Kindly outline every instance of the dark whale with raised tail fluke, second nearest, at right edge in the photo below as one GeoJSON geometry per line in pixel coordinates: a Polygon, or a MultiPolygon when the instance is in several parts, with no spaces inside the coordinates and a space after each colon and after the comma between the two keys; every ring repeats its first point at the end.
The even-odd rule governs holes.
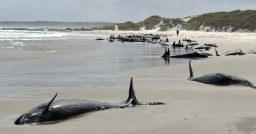
{"type": "Polygon", "coordinates": [[[189,61],[189,71],[190,71],[189,80],[191,81],[197,81],[205,84],[216,84],[221,86],[228,86],[232,84],[244,84],[245,86],[256,88],[255,85],[253,85],[248,80],[245,80],[244,78],[240,78],[238,76],[233,76],[231,74],[226,74],[222,72],[206,74],[204,76],[194,78],[193,70],[191,67],[191,60],[189,61]]]}

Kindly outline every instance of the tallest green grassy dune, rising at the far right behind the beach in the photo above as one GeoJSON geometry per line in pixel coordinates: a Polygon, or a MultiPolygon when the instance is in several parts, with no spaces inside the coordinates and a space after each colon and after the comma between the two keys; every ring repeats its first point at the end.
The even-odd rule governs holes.
{"type": "Polygon", "coordinates": [[[212,31],[255,31],[256,30],[256,11],[230,11],[230,12],[216,12],[206,13],[197,17],[191,18],[185,25],[184,29],[199,30],[200,27],[209,27],[212,31]]]}

